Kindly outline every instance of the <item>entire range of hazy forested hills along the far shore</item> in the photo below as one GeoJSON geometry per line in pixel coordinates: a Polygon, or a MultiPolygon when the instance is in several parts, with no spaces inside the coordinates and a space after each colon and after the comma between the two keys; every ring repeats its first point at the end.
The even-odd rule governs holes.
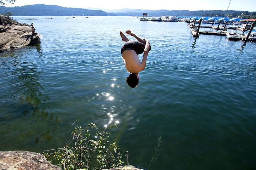
{"type": "MultiPolygon", "coordinates": [[[[114,10],[113,10],[114,11],[114,10]]],[[[139,9],[124,9],[119,12],[108,13],[103,10],[88,10],[83,8],[66,8],[57,5],[27,5],[21,7],[4,7],[0,6],[0,14],[11,12],[13,16],[142,16],[142,13],[148,13],[152,16],[225,16],[226,11],[188,11],[188,10],[139,10],[139,9]]],[[[228,11],[229,17],[238,17],[244,12],[244,18],[256,18],[256,12],[248,11],[228,11]]]]}

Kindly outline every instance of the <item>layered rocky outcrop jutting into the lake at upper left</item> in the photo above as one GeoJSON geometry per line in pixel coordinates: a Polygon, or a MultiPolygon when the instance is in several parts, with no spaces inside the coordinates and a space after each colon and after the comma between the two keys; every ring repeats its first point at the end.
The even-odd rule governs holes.
{"type": "Polygon", "coordinates": [[[39,36],[33,35],[32,27],[0,15],[0,51],[37,43],[39,36]]]}

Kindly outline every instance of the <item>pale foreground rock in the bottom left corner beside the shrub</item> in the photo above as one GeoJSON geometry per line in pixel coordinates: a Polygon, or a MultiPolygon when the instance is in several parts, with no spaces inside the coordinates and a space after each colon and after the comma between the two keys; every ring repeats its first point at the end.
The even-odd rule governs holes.
{"type": "Polygon", "coordinates": [[[43,154],[28,151],[0,151],[1,170],[61,170],[43,154]]]}

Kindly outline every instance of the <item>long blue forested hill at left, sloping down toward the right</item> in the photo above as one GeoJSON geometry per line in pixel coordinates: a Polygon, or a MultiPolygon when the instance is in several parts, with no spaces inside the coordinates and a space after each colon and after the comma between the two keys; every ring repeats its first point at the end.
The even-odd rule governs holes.
{"type": "Polygon", "coordinates": [[[21,7],[0,6],[0,14],[11,12],[13,16],[116,16],[101,10],[87,10],[82,8],[66,8],[57,5],[26,5],[21,7]]]}

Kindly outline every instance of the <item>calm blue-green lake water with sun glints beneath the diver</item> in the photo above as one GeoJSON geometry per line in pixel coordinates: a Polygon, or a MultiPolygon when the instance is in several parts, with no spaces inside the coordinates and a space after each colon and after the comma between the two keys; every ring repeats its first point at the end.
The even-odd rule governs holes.
{"type": "Polygon", "coordinates": [[[99,130],[116,122],[111,136],[130,165],[148,168],[161,136],[155,169],[256,169],[255,43],[136,17],[19,22],[43,37],[0,52],[0,150],[60,148],[80,119],[99,130]],[[121,56],[127,29],[152,46],[135,89],[121,56]]]}

